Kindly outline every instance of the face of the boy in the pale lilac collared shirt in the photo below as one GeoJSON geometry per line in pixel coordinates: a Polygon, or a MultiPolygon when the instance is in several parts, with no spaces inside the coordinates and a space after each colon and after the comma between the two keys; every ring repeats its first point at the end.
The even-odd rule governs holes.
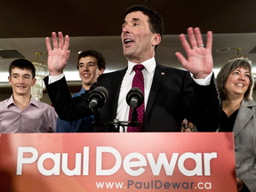
{"type": "Polygon", "coordinates": [[[28,96],[31,86],[36,84],[36,78],[32,78],[31,71],[27,69],[12,68],[11,76],[8,76],[9,84],[12,85],[13,95],[28,96]]]}

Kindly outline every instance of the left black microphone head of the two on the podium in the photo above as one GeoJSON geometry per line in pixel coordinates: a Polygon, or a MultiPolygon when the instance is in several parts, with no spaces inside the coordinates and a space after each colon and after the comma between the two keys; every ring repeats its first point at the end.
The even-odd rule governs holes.
{"type": "Polygon", "coordinates": [[[90,100],[89,108],[101,108],[106,102],[107,98],[108,90],[103,86],[96,87],[88,95],[88,99],[90,100]]]}

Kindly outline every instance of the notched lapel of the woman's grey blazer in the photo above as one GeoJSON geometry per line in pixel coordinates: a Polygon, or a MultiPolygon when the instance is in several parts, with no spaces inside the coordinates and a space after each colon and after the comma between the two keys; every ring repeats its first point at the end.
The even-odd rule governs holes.
{"type": "Polygon", "coordinates": [[[244,128],[244,125],[247,124],[247,122],[252,118],[253,114],[255,113],[251,108],[249,108],[252,106],[255,106],[255,104],[251,100],[242,101],[233,128],[234,137],[244,128]]]}

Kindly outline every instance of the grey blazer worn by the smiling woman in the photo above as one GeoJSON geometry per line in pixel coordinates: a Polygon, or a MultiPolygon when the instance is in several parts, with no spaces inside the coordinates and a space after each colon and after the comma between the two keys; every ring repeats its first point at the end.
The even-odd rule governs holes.
{"type": "Polygon", "coordinates": [[[236,177],[250,191],[256,191],[256,102],[242,101],[233,128],[236,151],[236,177]]]}

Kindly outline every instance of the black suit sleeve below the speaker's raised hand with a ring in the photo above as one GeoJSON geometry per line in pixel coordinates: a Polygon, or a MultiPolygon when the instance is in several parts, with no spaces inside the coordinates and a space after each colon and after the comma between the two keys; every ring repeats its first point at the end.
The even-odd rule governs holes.
{"type": "Polygon", "coordinates": [[[211,84],[202,86],[196,84],[188,72],[183,78],[180,93],[182,114],[200,132],[216,132],[220,126],[221,102],[214,80],[212,76],[211,84]]]}

